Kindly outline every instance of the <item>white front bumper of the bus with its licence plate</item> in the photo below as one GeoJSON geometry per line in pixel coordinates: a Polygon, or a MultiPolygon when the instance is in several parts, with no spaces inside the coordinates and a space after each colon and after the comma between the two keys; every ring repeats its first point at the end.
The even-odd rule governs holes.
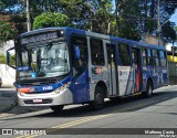
{"type": "Polygon", "coordinates": [[[54,106],[67,105],[73,103],[73,96],[69,88],[55,94],[54,92],[45,94],[23,94],[18,93],[18,103],[20,106],[54,106]]]}

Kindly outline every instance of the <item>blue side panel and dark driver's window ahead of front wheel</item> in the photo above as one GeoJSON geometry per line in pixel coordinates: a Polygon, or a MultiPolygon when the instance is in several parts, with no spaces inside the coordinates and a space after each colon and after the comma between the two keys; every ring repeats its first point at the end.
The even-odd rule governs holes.
{"type": "Polygon", "coordinates": [[[72,92],[74,103],[82,103],[88,100],[88,55],[87,41],[84,36],[72,36],[71,46],[73,51],[72,59],[72,92]]]}

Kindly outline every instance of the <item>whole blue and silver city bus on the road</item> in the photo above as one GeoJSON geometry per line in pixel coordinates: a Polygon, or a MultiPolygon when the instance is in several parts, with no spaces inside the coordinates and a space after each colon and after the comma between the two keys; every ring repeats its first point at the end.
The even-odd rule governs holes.
{"type": "Polygon", "coordinates": [[[90,104],[101,109],[105,98],[150,97],[169,79],[165,47],[84,30],[34,30],[19,35],[13,49],[20,106],[60,112],[64,105],[90,104]]]}

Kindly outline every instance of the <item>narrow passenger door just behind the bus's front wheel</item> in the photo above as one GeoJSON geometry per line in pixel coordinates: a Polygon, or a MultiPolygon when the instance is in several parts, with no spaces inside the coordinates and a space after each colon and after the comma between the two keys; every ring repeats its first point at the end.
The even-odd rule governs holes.
{"type": "Polygon", "coordinates": [[[108,68],[108,81],[110,81],[110,93],[111,95],[118,94],[117,85],[117,67],[116,67],[116,46],[115,44],[106,43],[107,51],[107,68],[108,68]]]}

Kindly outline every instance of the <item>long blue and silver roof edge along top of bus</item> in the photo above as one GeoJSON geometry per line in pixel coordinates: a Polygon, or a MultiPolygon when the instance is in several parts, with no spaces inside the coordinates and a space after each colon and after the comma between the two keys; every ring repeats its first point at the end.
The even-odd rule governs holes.
{"type": "Polygon", "coordinates": [[[46,31],[56,31],[56,30],[65,30],[69,33],[90,35],[90,36],[94,36],[94,38],[110,40],[112,42],[122,42],[122,43],[128,43],[128,44],[135,44],[135,45],[137,44],[137,45],[146,46],[146,47],[165,50],[165,46],[157,46],[157,45],[154,45],[154,44],[147,44],[145,42],[126,40],[126,39],[122,39],[122,38],[101,34],[101,33],[96,33],[96,32],[84,31],[84,30],[80,30],[80,29],[73,29],[73,28],[69,28],[69,26],[62,26],[62,28],[54,26],[54,28],[43,28],[43,29],[32,30],[30,32],[25,32],[25,33],[20,34],[18,36],[18,39],[23,38],[23,36],[33,35],[33,34],[38,34],[38,33],[42,33],[42,32],[46,32],[46,31]]]}

